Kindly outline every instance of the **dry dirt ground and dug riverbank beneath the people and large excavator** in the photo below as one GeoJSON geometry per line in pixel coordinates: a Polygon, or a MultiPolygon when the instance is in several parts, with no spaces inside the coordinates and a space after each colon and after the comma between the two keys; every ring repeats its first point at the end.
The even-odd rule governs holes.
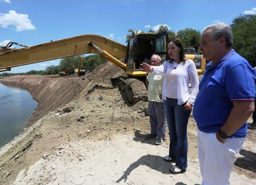
{"type": "MultiPolygon", "coordinates": [[[[23,139],[0,150],[1,184],[200,184],[192,116],[188,170],[172,175],[169,168],[174,163],[162,159],[169,151],[168,131],[160,146],[145,139],[150,132],[144,113],[147,103],[127,103],[124,93],[110,83],[111,77],[119,75],[122,70],[108,62],[84,77],[10,78],[9,84],[23,84],[39,105],[32,116],[37,126],[25,129],[23,139]],[[33,91],[33,83],[47,84],[56,92],[47,94],[51,89],[46,87],[33,91]],[[40,104],[47,104],[46,109],[40,104]]],[[[250,128],[236,156],[232,184],[256,184],[255,153],[255,129],[250,128]]]]}

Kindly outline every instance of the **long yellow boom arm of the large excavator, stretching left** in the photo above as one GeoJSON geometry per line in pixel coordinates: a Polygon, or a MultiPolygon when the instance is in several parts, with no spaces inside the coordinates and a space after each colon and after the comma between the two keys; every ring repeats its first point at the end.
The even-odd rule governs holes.
{"type": "MultiPolygon", "coordinates": [[[[36,46],[1,52],[0,72],[11,71],[11,68],[16,66],[34,64],[75,55],[89,53],[102,55],[102,53],[94,47],[88,46],[89,42],[92,42],[100,48],[104,48],[104,51],[113,57],[125,58],[126,56],[127,47],[123,44],[100,35],[80,35],[53,42],[46,42],[36,46]]],[[[104,57],[104,55],[102,56],[104,57]]]]}

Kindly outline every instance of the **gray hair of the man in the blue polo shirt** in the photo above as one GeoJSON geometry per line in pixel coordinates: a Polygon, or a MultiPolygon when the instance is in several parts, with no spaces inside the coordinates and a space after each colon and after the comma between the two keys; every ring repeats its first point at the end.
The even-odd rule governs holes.
{"type": "Polygon", "coordinates": [[[232,47],[233,46],[233,33],[232,28],[223,22],[212,24],[207,26],[203,30],[203,34],[207,31],[212,32],[212,39],[217,41],[220,37],[225,37],[226,39],[226,46],[232,47]]]}

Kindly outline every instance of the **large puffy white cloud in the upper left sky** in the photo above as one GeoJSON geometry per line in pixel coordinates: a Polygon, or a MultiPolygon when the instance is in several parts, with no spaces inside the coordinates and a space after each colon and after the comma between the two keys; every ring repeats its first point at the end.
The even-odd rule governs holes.
{"type": "Polygon", "coordinates": [[[16,31],[33,30],[36,27],[31,24],[31,20],[28,19],[28,14],[18,14],[14,10],[10,10],[9,13],[0,13],[0,26],[7,28],[9,25],[14,25],[16,31]]]}

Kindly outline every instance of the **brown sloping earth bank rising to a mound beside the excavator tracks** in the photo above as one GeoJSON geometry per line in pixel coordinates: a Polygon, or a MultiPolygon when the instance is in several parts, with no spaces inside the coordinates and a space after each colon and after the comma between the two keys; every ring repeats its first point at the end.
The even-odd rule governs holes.
{"type": "Polygon", "coordinates": [[[15,76],[1,83],[27,89],[38,106],[28,121],[28,127],[49,112],[77,100],[99,83],[110,85],[110,78],[124,76],[123,70],[111,62],[98,66],[84,76],[15,76]]]}

